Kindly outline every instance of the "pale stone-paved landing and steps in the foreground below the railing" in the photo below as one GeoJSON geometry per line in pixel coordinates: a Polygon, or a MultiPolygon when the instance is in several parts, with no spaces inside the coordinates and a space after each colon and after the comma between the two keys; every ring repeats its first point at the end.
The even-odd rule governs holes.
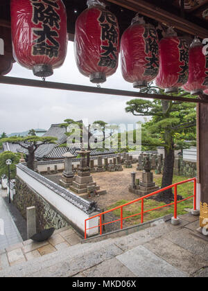
{"type": "Polygon", "coordinates": [[[45,245],[28,241],[15,252],[0,253],[0,277],[208,276],[208,238],[200,238],[196,232],[199,218],[191,214],[180,218],[177,226],[160,220],[128,236],[118,237],[117,233],[116,238],[96,243],[74,241],[64,249],[62,243],[69,243],[72,233],[71,229],[60,229],[45,245]],[[24,263],[18,263],[17,258],[20,262],[23,256],[24,263]],[[6,258],[10,267],[6,267],[6,258]]]}

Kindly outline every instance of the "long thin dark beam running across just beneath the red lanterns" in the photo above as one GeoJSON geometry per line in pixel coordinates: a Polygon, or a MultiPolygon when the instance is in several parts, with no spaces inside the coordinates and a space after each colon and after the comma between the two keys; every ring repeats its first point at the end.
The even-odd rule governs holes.
{"type": "Polygon", "coordinates": [[[92,87],[92,86],[73,85],[73,84],[58,83],[58,82],[46,82],[46,81],[41,81],[41,80],[3,77],[3,76],[0,76],[0,84],[37,87],[37,88],[45,88],[45,89],[58,89],[58,90],[67,90],[67,91],[78,91],[78,92],[94,93],[94,94],[107,94],[107,95],[112,95],[112,96],[125,96],[125,97],[130,97],[130,98],[173,100],[173,101],[182,101],[182,102],[189,102],[189,103],[208,103],[207,95],[205,96],[202,95],[201,98],[186,98],[186,97],[180,97],[180,96],[147,94],[147,93],[140,93],[137,91],[98,88],[98,87],[92,87]]]}

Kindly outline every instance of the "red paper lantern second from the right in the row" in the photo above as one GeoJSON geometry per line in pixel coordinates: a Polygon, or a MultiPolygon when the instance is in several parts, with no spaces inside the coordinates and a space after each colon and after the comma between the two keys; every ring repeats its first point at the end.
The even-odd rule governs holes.
{"type": "Polygon", "coordinates": [[[188,80],[189,44],[177,37],[172,28],[159,42],[159,74],[156,85],[166,93],[175,92],[188,80]]]}

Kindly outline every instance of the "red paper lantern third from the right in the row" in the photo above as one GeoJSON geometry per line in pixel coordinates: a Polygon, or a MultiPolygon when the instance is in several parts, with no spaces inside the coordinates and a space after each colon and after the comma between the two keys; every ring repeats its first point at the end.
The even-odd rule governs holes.
{"type": "Polygon", "coordinates": [[[121,71],[135,88],[146,87],[159,72],[157,31],[138,15],[121,37],[121,71]]]}

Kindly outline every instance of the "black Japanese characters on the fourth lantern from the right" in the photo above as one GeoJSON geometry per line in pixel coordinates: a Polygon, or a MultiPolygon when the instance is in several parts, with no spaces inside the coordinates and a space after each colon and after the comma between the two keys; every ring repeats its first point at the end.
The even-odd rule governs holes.
{"type": "Polygon", "coordinates": [[[102,45],[101,48],[104,53],[101,53],[98,66],[111,67],[114,69],[117,64],[117,46],[118,46],[118,24],[116,17],[111,12],[101,11],[98,18],[101,24],[101,39],[103,42],[107,41],[107,45],[102,45]]]}

